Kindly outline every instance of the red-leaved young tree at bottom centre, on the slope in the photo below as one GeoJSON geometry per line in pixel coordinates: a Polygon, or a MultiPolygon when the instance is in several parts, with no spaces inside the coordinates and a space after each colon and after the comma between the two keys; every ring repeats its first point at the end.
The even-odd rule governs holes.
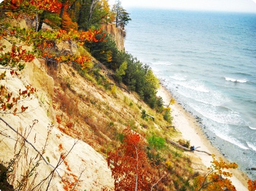
{"type": "Polygon", "coordinates": [[[115,190],[151,190],[157,175],[145,153],[144,136],[130,128],[123,130],[123,144],[116,152],[108,153],[108,165],[115,180],[115,190]]]}

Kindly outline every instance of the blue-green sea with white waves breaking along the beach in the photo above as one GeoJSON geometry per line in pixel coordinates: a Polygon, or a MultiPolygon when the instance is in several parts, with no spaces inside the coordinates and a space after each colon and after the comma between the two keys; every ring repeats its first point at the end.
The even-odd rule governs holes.
{"type": "Polygon", "coordinates": [[[256,179],[256,14],[128,9],[125,49],[256,179]]]}

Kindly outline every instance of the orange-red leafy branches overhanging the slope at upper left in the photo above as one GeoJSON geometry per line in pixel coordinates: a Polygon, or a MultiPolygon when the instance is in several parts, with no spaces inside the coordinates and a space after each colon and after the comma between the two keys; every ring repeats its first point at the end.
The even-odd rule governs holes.
{"type": "MultiPolygon", "coordinates": [[[[7,80],[8,77],[17,76],[18,70],[22,70],[26,63],[31,63],[34,58],[43,58],[45,60],[52,58],[51,61],[56,63],[77,63],[82,65],[82,68],[88,67],[90,57],[85,55],[56,55],[50,53],[50,48],[62,41],[73,41],[77,44],[84,44],[85,41],[99,41],[95,36],[102,31],[39,31],[35,32],[33,28],[21,28],[19,26],[11,26],[10,18],[17,17],[33,17],[35,14],[44,10],[54,10],[57,5],[56,1],[49,0],[31,0],[31,1],[4,1],[0,4],[2,15],[2,23],[0,26],[0,82],[7,80]],[[8,18],[9,17],[9,18],[8,18]],[[27,48],[29,47],[29,49],[27,48]],[[10,74],[8,74],[10,73],[10,74]],[[8,74],[8,75],[7,75],[8,74]]],[[[104,36],[104,35],[103,35],[104,36]]],[[[0,84],[0,112],[2,114],[17,114],[24,112],[27,107],[17,105],[25,99],[30,99],[31,94],[35,89],[31,86],[26,86],[25,89],[20,89],[17,95],[11,92],[7,85],[0,84]]]]}

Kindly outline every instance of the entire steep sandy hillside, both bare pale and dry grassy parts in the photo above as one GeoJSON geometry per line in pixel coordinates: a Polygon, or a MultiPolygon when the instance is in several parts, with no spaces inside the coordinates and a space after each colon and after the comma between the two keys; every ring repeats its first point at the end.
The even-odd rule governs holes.
{"type": "MultiPolygon", "coordinates": [[[[54,48],[62,53],[85,53],[82,47],[68,42],[54,48]]],[[[163,120],[162,114],[150,109],[136,93],[115,86],[115,81],[104,74],[104,65],[97,61],[93,64],[91,70],[82,70],[78,65],[55,65],[34,59],[21,75],[7,76],[7,80],[1,81],[14,94],[27,85],[38,89],[32,99],[20,102],[20,106],[28,106],[26,112],[16,116],[5,114],[2,118],[40,151],[44,159],[38,162],[39,166],[38,152],[28,143],[24,145],[20,135],[0,123],[0,158],[5,166],[14,169],[11,184],[19,185],[23,181],[31,184],[31,188],[39,184],[42,190],[47,186],[51,190],[74,187],[74,190],[112,190],[114,180],[104,157],[121,144],[124,128],[129,126],[136,132],[144,132],[147,138],[156,135],[179,139],[180,133],[166,128],[170,124],[163,120]],[[141,118],[143,110],[154,116],[154,120],[141,118]],[[10,163],[13,158],[14,163],[10,163]],[[26,181],[22,177],[27,177],[26,181]],[[41,180],[45,182],[40,183],[41,180]]],[[[191,161],[181,151],[167,145],[165,150],[148,150],[148,155],[161,160],[163,166],[165,161],[171,161],[168,163],[171,173],[162,190],[181,189],[185,187],[183,182],[191,186],[191,161]]]]}

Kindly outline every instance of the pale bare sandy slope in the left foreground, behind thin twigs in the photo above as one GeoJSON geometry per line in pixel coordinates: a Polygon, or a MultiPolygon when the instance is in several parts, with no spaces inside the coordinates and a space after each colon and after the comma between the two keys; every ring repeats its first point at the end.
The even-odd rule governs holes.
{"type": "MultiPolygon", "coordinates": [[[[81,173],[80,181],[76,189],[100,190],[103,186],[112,188],[114,184],[111,179],[111,171],[103,156],[96,152],[90,145],[80,141],[79,138],[72,138],[58,130],[58,124],[55,122],[56,112],[52,108],[51,100],[54,81],[52,77],[46,74],[43,65],[42,62],[35,59],[33,63],[27,64],[27,67],[19,78],[10,77],[9,80],[4,82],[13,92],[24,89],[24,86],[27,84],[39,89],[32,99],[23,101],[22,104],[28,106],[26,113],[17,116],[11,114],[4,115],[4,120],[7,121],[11,127],[22,133],[23,136],[26,136],[27,140],[32,142],[38,150],[41,150],[47,142],[44,150],[45,153],[43,151],[41,151],[41,153],[44,153],[43,156],[47,158],[47,160],[49,160],[48,162],[53,166],[56,166],[62,154],[64,153],[65,156],[75,142],[78,141],[64,162],[57,168],[63,180],[60,182],[61,179],[59,179],[59,176],[55,173],[51,181],[51,190],[65,190],[67,186],[73,188],[74,183],[78,180],[81,173]],[[34,120],[36,121],[32,126],[34,120]],[[49,134],[48,137],[47,134],[49,134]],[[65,179],[67,179],[68,182],[65,181],[65,179]]],[[[3,122],[0,123],[0,132],[0,158],[3,162],[9,162],[19,151],[22,140],[19,135],[5,126],[3,122]]],[[[19,169],[17,172],[20,173],[26,170],[26,168],[23,169],[24,167],[21,164],[25,166],[30,159],[32,159],[33,162],[36,161],[34,158],[37,152],[28,144],[26,144],[25,148],[26,151],[22,152],[24,158],[22,157],[16,164],[16,168],[19,169]]],[[[53,170],[52,166],[47,165],[43,160],[41,160],[40,163],[40,166],[37,168],[37,173],[40,174],[40,176],[36,178],[35,183],[45,178],[50,174],[51,170],[53,170]]],[[[16,176],[13,184],[16,184],[16,180],[19,180],[19,174],[16,174],[16,176]]],[[[45,188],[45,186],[43,188],[45,188]]]]}

